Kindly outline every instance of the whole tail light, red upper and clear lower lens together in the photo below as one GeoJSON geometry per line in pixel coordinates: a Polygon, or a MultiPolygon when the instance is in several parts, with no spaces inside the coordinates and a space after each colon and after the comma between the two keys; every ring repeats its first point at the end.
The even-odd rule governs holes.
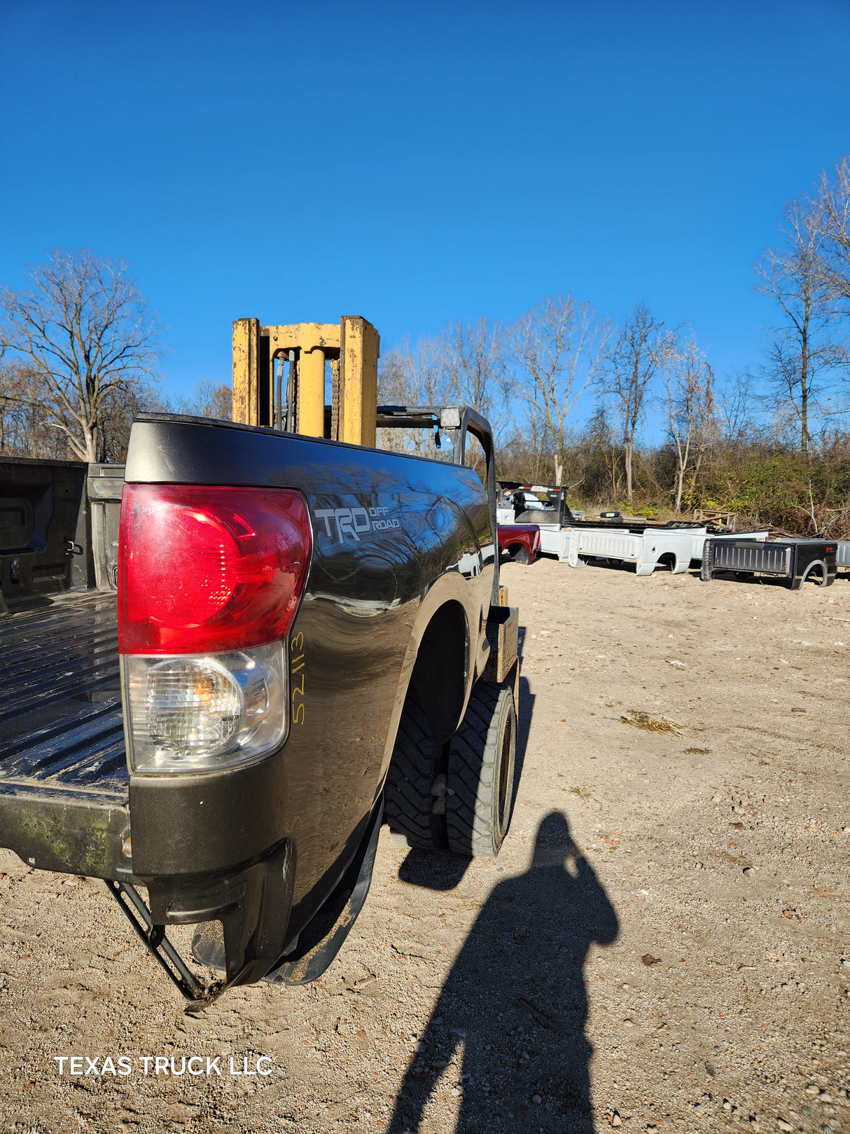
{"type": "Polygon", "coordinates": [[[298,492],[125,486],[118,631],[134,772],[214,771],[281,744],[286,636],[311,550],[298,492]]]}

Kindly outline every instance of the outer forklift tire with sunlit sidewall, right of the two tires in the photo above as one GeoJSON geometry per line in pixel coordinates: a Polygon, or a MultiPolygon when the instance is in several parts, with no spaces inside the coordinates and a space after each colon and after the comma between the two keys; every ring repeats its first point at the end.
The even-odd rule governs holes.
{"type": "Polygon", "coordinates": [[[517,711],[507,686],[479,682],[449,747],[449,848],[494,858],[513,806],[517,711]]]}

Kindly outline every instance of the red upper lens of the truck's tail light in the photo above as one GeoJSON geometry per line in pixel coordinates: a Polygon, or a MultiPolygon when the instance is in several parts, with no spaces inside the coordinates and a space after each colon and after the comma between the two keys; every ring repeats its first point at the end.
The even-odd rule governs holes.
{"type": "Polygon", "coordinates": [[[127,484],[118,548],[121,653],[204,653],[282,638],[312,550],[289,489],[127,484]]]}

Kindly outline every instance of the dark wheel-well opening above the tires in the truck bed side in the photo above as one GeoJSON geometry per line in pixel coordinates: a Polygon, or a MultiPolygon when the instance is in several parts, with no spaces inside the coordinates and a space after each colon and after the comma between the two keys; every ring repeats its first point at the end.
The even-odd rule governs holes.
{"type": "Polygon", "coordinates": [[[422,706],[433,735],[445,742],[464,708],[469,633],[459,602],[447,602],[428,623],[419,642],[409,689],[422,706]]]}

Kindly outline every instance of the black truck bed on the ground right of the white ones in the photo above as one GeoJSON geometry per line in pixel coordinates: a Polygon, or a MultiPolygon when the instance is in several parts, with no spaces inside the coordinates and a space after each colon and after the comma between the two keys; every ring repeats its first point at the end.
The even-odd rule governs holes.
{"type": "Polygon", "coordinates": [[[717,572],[729,570],[787,578],[792,591],[799,591],[808,578],[830,586],[835,582],[836,548],[834,540],[711,539],[706,540],[700,577],[707,582],[717,572]]]}

